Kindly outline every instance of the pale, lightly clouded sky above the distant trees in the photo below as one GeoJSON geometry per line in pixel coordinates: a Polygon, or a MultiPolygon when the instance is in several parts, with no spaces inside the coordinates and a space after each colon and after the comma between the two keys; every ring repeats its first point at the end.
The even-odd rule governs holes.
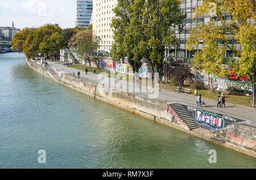
{"type": "Polygon", "coordinates": [[[15,28],[59,24],[75,27],[76,0],[0,0],[0,27],[15,28]]]}

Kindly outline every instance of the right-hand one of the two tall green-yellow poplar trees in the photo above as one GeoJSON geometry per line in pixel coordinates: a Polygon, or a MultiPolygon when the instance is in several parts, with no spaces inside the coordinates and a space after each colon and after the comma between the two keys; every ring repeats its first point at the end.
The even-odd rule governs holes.
{"type": "MultiPolygon", "coordinates": [[[[183,28],[180,1],[148,0],[146,1],[143,19],[144,57],[150,61],[152,72],[159,72],[163,67],[164,49],[167,46],[179,46],[179,40],[171,27],[183,28]]],[[[156,80],[156,79],[155,79],[156,80]]]]}

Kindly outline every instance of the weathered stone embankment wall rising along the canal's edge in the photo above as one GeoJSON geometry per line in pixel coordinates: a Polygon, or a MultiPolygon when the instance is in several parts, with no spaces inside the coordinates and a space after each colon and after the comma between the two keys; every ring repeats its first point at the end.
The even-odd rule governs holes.
{"type": "MultiPolygon", "coordinates": [[[[222,134],[219,134],[218,131],[212,132],[203,128],[189,130],[187,125],[185,125],[185,123],[182,121],[182,119],[180,119],[174,112],[174,110],[170,108],[169,104],[166,104],[165,102],[151,100],[146,97],[134,95],[133,93],[119,92],[116,89],[108,89],[108,91],[106,91],[104,87],[101,87],[97,83],[90,82],[86,79],[79,79],[76,76],[65,74],[65,72],[59,72],[59,75],[57,75],[55,73],[56,70],[53,70],[51,67],[43,67],[30,59],[27,59],[27,65],[33,68],[35,71],[39,72],[40,74],[46,76],[47,78],[54,80],[61,85],[82,92],[85,95],[95,97],[98,100],[117,106],[118,108],[125,109],[134,114],[141,115],[142,117],[151,119],[154,122],[158,122],[163,125],[186,132],[188,134],[196,136],[197,138],[207,140],[214,144],[221,145],[222,147],[233,149],[234,151],[256,158],[255,145],[253,148],[250,149],[245,145],[230,142],[230,140],[221,138],[222,134]]],[[[236,128],[236,131],[237,128],[241,127],[237,124],[238,123],[234,123],[234,125],[232,125],[233,129],[236,128]]],[[[255,132],[255,127],[250,128],[253,128],[253,131],[255,132]]],[[[229,130],[232,131],[232,128],[225,128],[225,132],[223,132],[224,130],[222,130],[221,133],[223,132],[223,134],[227,134],[229,133],[229,130]]],[[[244,131],[243,127],[238,130],[244,131]]],[[[248,138],[253,139],[255,137],[248,138]]]]}

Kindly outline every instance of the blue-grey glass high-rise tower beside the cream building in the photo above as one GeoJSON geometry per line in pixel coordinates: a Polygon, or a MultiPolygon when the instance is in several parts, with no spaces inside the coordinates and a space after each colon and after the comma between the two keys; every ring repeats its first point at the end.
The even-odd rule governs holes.
{"type": "Polygon", "coordinates": [[[93,0],[77,0],[76,26],[87,28],[93,12],[93,0]]]}

